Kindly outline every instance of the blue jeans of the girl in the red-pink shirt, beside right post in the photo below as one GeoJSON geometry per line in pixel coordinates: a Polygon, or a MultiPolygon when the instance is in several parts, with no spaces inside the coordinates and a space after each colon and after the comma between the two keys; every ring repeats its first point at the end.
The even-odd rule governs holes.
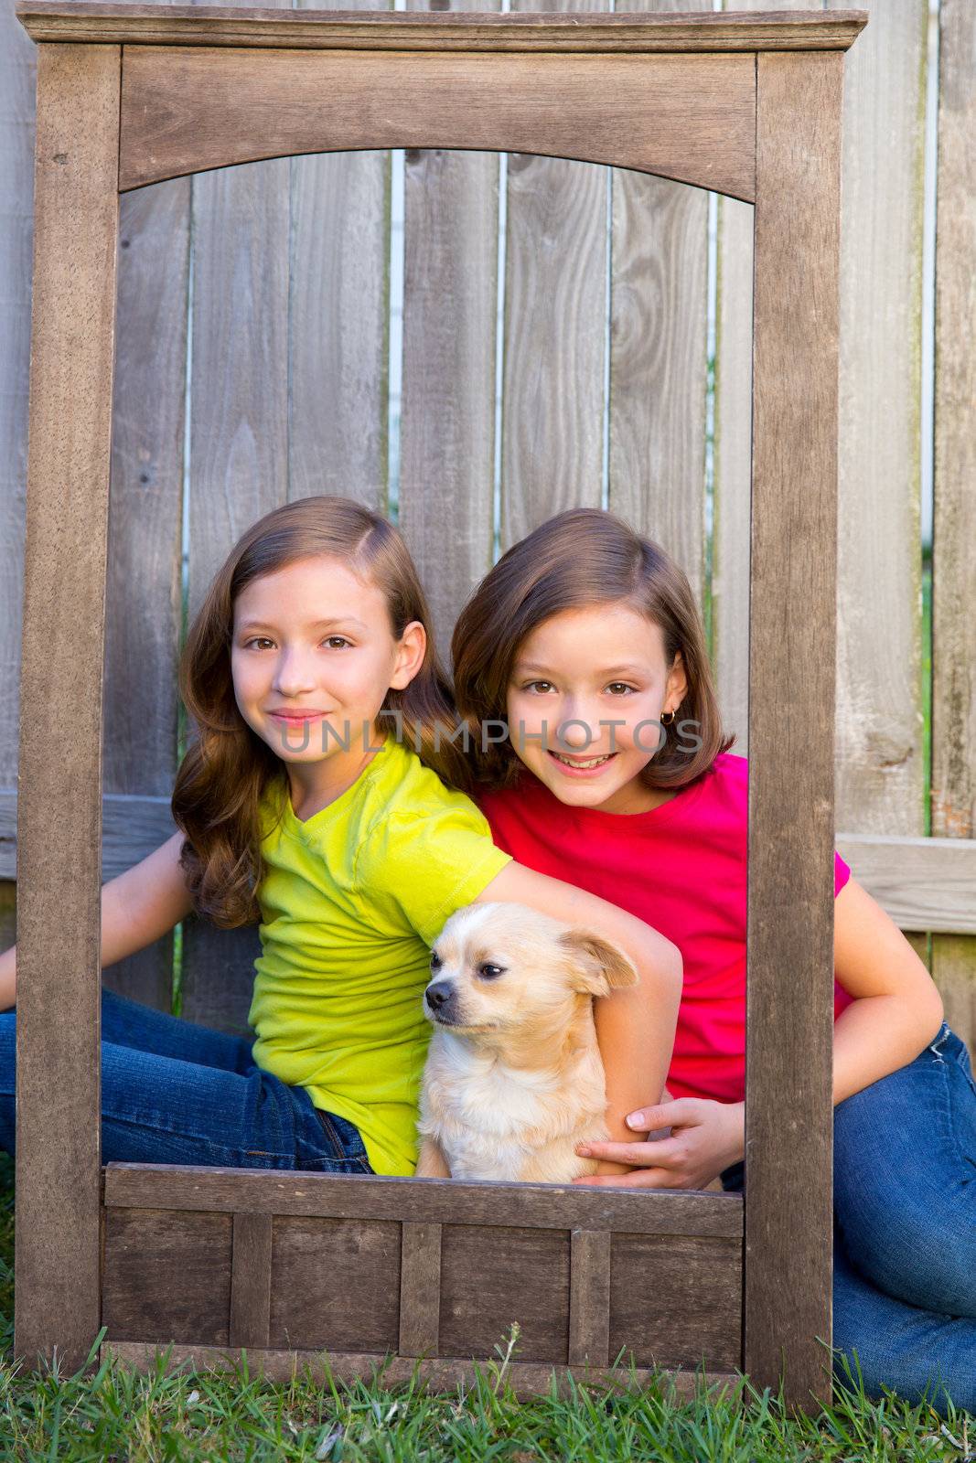
{"type": "MultiPolygon", "coordinates": [[[[721,1175],[742,1189],[745,1167],[721,1175]]],[[[944,1021],[834,1107],[834,1374],[976,1412],[976,1083],[944,1021]]]]}

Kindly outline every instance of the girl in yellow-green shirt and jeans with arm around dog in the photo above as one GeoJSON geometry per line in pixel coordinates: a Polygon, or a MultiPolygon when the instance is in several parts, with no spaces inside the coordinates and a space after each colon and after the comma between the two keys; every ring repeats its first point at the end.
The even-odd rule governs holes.
{"type": "MultiPolygon", "coordinates": [[[[639,986],[597,1002],[612,1134],[632,1138],[626,1113],[667,1072],[680,957],[492,843],[399,533],[342,497],[268,514],[214,578],[180,685],[198,730],[173,793],[180,831],[104,887],[102,964],[190,910],[227,929],[259,922],[256,1040],[104,990],[104,1160],[411,1173],[429,947],[480,900],[585,923],[637,964],[639,986]]],[[[0,1008],[15,958],[0,957],[0,1008]]],[[[13,1037],[4,1012],[7,1151],[13,1037]]]]}

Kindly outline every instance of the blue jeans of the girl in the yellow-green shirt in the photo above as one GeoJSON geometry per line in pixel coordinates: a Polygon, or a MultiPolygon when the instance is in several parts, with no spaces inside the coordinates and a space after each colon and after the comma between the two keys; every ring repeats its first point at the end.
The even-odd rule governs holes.
{"type": "MultiPolygon", "coordinates": [[[[0,1148],[15,1150],[16,1011],[0,1012],[0,1148]]],[[[102,1162],[372,1173],[359,1129],[256,1067],[252,1042],[102,988],[102,1162]]]]}

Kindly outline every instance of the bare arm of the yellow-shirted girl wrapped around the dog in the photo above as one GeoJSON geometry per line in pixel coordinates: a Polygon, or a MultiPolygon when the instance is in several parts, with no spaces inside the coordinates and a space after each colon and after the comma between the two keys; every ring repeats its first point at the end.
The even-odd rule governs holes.
{"type": "MultiPolygon", "coordinates": [[[[476,903],[500,900],[528,904],[553,919],[584,925],[631,957],[641,977],[594,1002],[597,1040],[607,1080],[607,1128],[617,1141],[634,1141],[626,1115],[658,1094],[667,1078],[682,993],[682,957],[676,945],[644,920],[562,879],[550,879],[521,863],[508,863],[476,903]]],[[[620,1165],[601,1165],[619,1173],[620,1165]]]]}

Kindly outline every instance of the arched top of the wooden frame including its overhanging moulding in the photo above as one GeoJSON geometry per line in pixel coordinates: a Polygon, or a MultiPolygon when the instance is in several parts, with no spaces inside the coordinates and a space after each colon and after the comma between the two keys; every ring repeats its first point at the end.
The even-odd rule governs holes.
{"type": "Polygon", "coordinates": [[[18,13],[37,41],[121,45],[120,192],[263,158],[397,146],[613,164],[749,203],[758,53],[846,50],[866,19],[92,0],[18,13]]]}

